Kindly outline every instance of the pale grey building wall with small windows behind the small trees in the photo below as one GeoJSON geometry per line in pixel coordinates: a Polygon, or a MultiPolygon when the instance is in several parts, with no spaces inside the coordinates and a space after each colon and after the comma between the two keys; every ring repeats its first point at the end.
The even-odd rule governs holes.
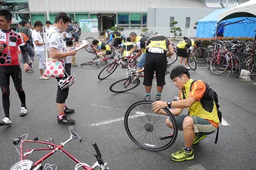
{"type": "Polygon", "coordinates": [[[181,27],[182,35],[195,37],[195,22],[216,9],[205,8],[148,8],[148,28],[167,37],[173,37],[170,33],[170,17],[177,21],[177,27],[181,27]],[[186,17],[190,17],[190,26],[186,28],[186,17]]]}

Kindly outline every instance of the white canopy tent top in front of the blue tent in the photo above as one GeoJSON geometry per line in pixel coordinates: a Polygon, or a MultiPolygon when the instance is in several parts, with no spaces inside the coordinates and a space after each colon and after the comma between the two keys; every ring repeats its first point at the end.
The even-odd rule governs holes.
{"type": "Polygon", "coordinates": [[[256,17],[256,0],[249,0],[246,3],[219,13],[218,22],[236,17],[256,17]]]}

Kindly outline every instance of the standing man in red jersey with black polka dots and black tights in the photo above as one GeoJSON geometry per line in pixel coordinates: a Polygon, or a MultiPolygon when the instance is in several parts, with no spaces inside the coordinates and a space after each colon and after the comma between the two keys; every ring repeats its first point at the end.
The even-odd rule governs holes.
{"type": "Polygon", "coordinates": [[[9,115],[10,109],[10,77],[12,77],[15,89],[21,102],[20,116],[27,114],[26,96],[22,88],[21,68],[18,60],[17,49],[20,50],[24,57],[24,69],[29,71],[29,58],[22,37],[12,31],[12,14],[8,10],[0,10],[0,86],[2,90],[3,110],[5,118],[0,121],[0,126],[12,124],[9,115]]]}

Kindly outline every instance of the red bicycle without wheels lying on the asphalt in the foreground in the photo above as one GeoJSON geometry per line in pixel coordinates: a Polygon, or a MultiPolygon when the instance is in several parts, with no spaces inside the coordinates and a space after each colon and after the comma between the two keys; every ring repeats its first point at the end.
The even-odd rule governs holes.
{"type": "Polygon", "coordinates": [[[67,141],[61,143],[60,145],[51,143],[51,141],[54,142],[52,139],[48,139],[46,141],[37,141],[38,138],[34,138],[33,141],[29,141],[29,140],[26,140],[26,138],[28,137],[27,134],[25,134],[26,138],[24,140],[22,137],[25,135],[21,135],[20,137],[15,138],[12,141],[12,143],[16,146],[16,150],[17,150],[16,153],[19,153],[20,161],[18,161],[15,165],[13,165],[10,170],[53,170],[53,169],[56,170],[57,166],[55,164],[54,165],[46,164],[45,167],[43,168],[41,162],[43,162],[45,159],[52,156],[52,154],[56,153],[58,150],[60,150],[62,153],[64,153],[66,156],[68,156],[69,158],[71,158],[73,161],[75,161],[77,163],[75,170],[78,170],[79,167],[82,167],[84,170],[94,170],[96,167],[99,167],[101,170],[108,169],[108,167],[106,167],[108,163],[103,161],[101,153],[100,153],[99,148],[96,143],[93,144],[93,147],[96,151],[95,157],[97,158],[97,161],[95,164],[93,164],[92,167],[90,167],[89,165],[87,165],[85,163],[81,163],[78,159],[76,159],[74,156],[72,156],[70,153],[68,153],[66,150],[63,149],[63,147],[67,143],[69,143],[72,139],[78,139],[80,142],[82,141],[81,136],[76,132],[76,130],[73,126],[70,126],[69,129],[70,129],[70,138],[67,141]],[[24,150],[23,149],[24,143],[45,144],[45,145],[47,145],[47,147],[40,148],[40,149],[24,150]],[[17,149],[18,145],[20,145],[19,150],[17,149]],[[39,159],[38,161],[35,161],[34,163],[27,159],[28,156],[30,154],[32,154],[33,152],[42,151],[42,150],[50,150],[50,152],[47,153],[43,158],[39,159]]]}

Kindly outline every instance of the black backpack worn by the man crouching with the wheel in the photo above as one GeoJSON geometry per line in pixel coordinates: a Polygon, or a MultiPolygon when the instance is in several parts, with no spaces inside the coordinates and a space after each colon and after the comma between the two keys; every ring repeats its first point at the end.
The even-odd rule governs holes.
{"type": "MultiPolygon", "coordinates": [[[[191,91],[192,89],[192,85],[196,82],[197,80],[194,80],[192,81],[190,87],[189,87],[189,91],[191,91]]],[[[204,82],[204,81],[203,81],[204,82]]],[[[218,119],[221,123],[221,120],[222,120],[222,114],[221,114],[221,111],[219,110],[219,107],[220,105],[218,104],[218,95],[217,93],[207,84],[205,83],[205,86],[206,86],[206,90],[204,92],[204,95],[203,97],[201,98],[200,100],[200,103],[203,105],[204,104],[204,101],[214,101],[215,104],[216,104],[216,107],[217,107],[217,114],[218,114],[218,119]]],[[[218,141],[218,130],[219,130],[219,127],[217,129],[217,133],[216,133],[216,138],[215,138],[215,144],[217,144],[217,141],[218,141]]]]}

